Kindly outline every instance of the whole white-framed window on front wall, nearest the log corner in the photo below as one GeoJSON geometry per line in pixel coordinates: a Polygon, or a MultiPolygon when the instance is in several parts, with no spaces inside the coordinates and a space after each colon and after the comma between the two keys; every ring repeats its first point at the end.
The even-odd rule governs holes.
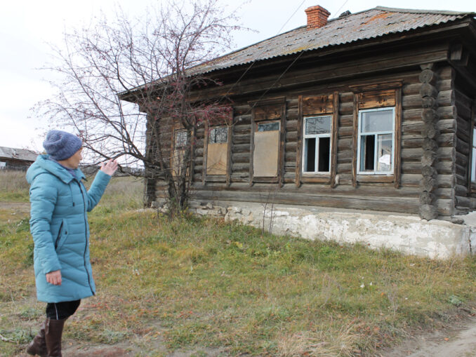
{"type": "Polygon", "coordinates": [[[395,108],[359,111],[357,170],[359,174],[393,173],[395,108]]]}

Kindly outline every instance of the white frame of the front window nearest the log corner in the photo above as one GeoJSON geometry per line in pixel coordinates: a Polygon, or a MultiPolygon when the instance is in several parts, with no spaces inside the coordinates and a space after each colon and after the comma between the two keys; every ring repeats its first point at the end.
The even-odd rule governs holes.
{"type": "Polygon", "coordinates": [[[362,109],[359,110],[359,125],[357,127],[358,130],[358,136],[357,136],[357,175],[392,175],[394,173],[394,166],[395,166],[395,107],[383,107],[383,108],[376,108],[376,109],[362,109]],[[361,151],[362,151],[362,117],[364,113],[368,112],[382,112],[382,111],[392,111],[392,131],[374,131],[374,132],[368,132],[364,133],[364,136],[368,135],[389,135],[392,134],[392,165],[390,166],[389,171],[377,171],[377,160],[378,160],[378,145],[377,143],[375,144],[375,147],[373,148],[373,171],[369,170],[360,170],[361,168],[361,151]]]}

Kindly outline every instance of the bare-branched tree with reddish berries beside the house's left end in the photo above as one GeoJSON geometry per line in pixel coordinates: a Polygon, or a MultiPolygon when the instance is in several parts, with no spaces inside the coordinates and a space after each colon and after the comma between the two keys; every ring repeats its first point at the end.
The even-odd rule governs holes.
{"type": "MultiPolygon", "coordinates": [[[[149,182],[166,182],[169,206],[183,210],[197,128],[224,123],[230,112],[223,100],[199,102],[190,94],[220,85],[199,68],[229,50],[239,28],[233,23],[218,0],[170,1],[136,20],[120,8],[114,20],[102,15],[53,48],[59,65],[48,69],[62,80],[52,82],[58,93],[39,104],[39,113],[74,127],[93,163],[139,163],[149,182]],[[180,130],[164,130],[164,123],[180,130]]],[[[147,203],[153,199],[151,189],[147,203]]]]}

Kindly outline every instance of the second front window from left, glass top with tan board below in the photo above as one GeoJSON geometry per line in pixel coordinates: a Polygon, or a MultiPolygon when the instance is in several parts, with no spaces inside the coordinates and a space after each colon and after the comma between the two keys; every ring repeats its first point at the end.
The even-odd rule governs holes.
{"type": "Polygon", "coordinates": [[[206,153],[206,174],[226,175],[228,128],[212,128],[206,153]]]}

